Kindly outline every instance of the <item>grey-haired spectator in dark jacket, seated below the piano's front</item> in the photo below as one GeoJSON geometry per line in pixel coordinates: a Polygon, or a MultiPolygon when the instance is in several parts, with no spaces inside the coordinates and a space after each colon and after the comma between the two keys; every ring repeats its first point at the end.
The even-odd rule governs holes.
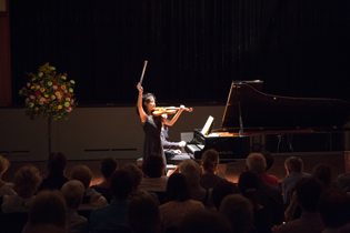
{"type": "Polygon", "coordinates": [[[281,224],[284,220],[282,192],[279,188],[262,182],[262,175],[267,169],[264,156],[261,153],[249,154],[246,169],[258,173],[260,178],[260,185],[257,190],[258,202],[271,211],[276,225],[281,224]]]}

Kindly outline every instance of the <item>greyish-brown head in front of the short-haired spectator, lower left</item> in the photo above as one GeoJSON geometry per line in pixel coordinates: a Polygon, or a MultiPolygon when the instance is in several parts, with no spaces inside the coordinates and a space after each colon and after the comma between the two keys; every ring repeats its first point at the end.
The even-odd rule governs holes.
{"type": "Polygon", "coordinates": [[[84,191],[86,189],[80,181],[71,180],[66,182],[61,188],[61,192],[66,199],[67,207],[78,210],[84,191]]]}

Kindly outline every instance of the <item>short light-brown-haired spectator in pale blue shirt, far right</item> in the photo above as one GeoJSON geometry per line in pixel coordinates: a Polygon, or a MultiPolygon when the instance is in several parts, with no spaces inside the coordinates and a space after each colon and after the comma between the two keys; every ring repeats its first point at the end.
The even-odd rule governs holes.
{"type": "Polygon", "coordinates": [[[282,181],[283,204],[287,207],[294,192],[296,183],[302,178],[309,178],[310,174],[303,172],[302,160],[298,156],[290,156],[284,161],[287,175],[282,181]]]}

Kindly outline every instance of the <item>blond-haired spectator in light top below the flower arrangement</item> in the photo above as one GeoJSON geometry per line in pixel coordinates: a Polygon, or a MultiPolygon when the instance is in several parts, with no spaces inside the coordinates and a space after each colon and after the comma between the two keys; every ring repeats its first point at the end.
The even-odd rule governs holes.
{"type": "Polygon", "coordinates": [[[14,174],[13,190],[16,194],[4,195],[2,200],[2,213],[28,212],[34,201],[34,194],[41,183],[41,176],[36,166],[24,165],[14,174]]]}

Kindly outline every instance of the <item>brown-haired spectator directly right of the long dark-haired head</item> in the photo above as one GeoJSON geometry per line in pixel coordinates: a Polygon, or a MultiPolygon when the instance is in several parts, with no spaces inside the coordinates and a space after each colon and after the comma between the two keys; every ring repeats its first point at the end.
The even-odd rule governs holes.
{"type": "Polygon", "coordinates": [[[199,164],[191,160],[183,160],[180,164],[180,172],[186,176],[193,200],[200,201],[207,209],[213,207],[211,192],[212,189],[206,190],[200,186],[199,180],[201,170],[199,164]]]}

